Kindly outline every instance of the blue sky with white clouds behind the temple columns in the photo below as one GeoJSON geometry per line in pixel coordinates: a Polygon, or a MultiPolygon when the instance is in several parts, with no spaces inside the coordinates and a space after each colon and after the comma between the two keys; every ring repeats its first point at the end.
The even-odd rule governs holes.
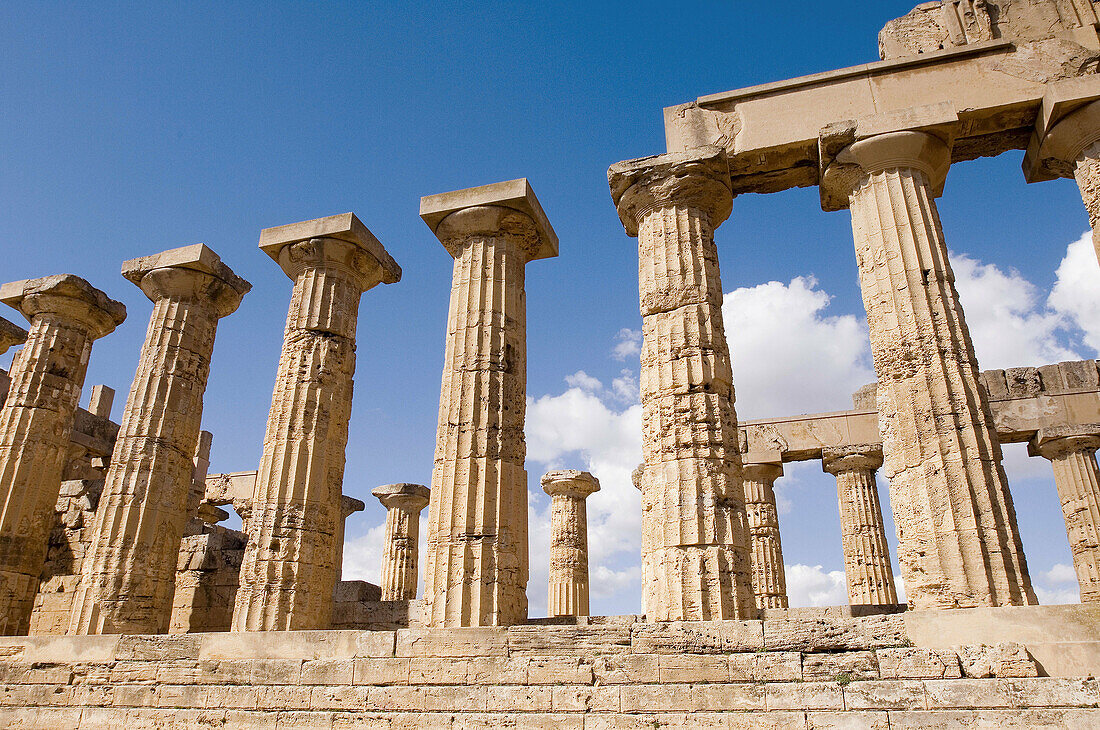
{"type": "MultiPolygon", "coordinates": [[[[875,60],[878,30],[912,4],[3,3],[2,277],[72,272],[128,305],[87,378],[119,391],[119,417],[150,312],[121,262],[211,246],[254,289],[219,328],[204,427],[212,469],[251,469],[290,291],[260,229],[354,211],[404,269],[364,296],[359,325],[345,491],[369,507],[349,521],[346,569],[372,576],[370,489],[431,475],[451,259],[419,197],[528,177],[561,239],[527,277],[531,613],[546,601],[538,477],[558,466],[605,486],[590,502],[593,610],[634,612],[637,258],[606,168],[663,151],[666,106],[875,60]]],[[[1097,264],[1067,250],[1088,225],[1076,187],[1025,186],[1020,159],[957,165],[939,201],[980,364],[1093,357],[1097,264]]],[[[745,196],[717,241],[740,416],[848,407],[869,379],[848,214],[822,212],[813,188],[745,196]]],[[[1065,599],[1049,467],[1019,451],[1024,546],[1044,596],[1065,599]]],[[[794,600],[838,602],[832,477],[789,467],[780,495],[794,600]]]]}

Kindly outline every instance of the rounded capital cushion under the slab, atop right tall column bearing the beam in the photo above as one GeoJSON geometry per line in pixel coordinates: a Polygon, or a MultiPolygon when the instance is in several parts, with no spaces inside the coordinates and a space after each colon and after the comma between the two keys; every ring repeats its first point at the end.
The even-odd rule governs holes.
{"type": "Polygon", "coordinates": [[[822,209],[844,210],[851,192],[868,175],[888,169],[921,170],[928,177],[933,196],[939,197],[950,166],[950,146],[927,132],[887,132],[853,142],[822,172],[822,209]]]}

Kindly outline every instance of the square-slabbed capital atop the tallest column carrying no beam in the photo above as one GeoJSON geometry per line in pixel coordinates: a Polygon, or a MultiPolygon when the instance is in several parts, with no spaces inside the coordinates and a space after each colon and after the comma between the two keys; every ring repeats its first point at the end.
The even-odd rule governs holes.
{"type": "Polygon", "coordinates": [[[470,236],[515,239],[527,261],[558,255],[554,233],[527,178],[420,198],[420,218],[451,256],[470,236]]]}

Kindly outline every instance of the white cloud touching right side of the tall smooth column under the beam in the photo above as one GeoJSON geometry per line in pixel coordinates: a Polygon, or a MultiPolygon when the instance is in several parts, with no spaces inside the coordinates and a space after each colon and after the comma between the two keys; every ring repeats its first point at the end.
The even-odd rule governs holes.
{"type": "Polygon", "coordinates": [[[1034,284],[1015,269],[1005,273],[966,254],[952,253],[950,257],[982,369],[1080,360],[1062,344],[1065,317],[1045,306],[1034,284]]]}

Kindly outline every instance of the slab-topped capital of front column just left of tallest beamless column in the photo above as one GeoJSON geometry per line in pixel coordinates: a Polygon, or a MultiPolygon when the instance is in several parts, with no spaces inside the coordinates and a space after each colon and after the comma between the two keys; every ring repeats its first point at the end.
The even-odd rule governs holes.
{"type": "Polygon", "coordinates": [[[321,267],[348,273],[363,291],[402,279],[402,267],[354,213],[264,229],[260,250],[292,279],[321,267]]]}

